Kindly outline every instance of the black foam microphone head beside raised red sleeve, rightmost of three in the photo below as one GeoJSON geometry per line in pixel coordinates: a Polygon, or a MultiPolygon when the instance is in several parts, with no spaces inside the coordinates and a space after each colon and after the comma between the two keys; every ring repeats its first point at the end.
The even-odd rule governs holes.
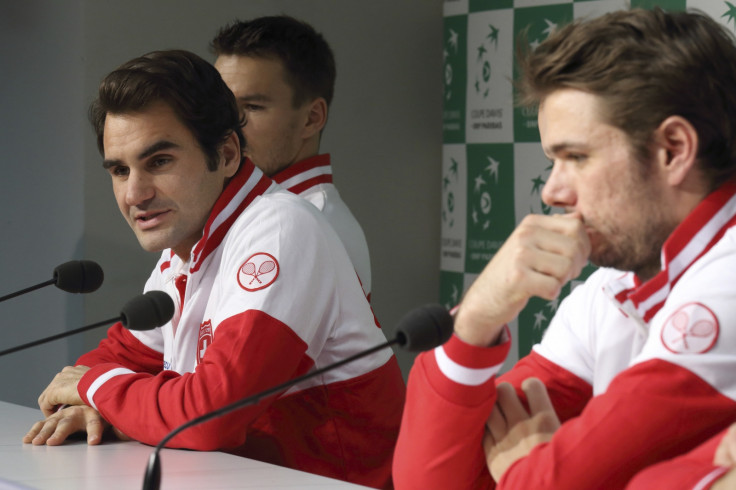
{"type": "Polygon", "coordinates": [[[447,309],[431,304],[407,313],[396,327],[396,338],[404,350],[420,352],[447,342],[452,330],[453,320],[447,309]]]}

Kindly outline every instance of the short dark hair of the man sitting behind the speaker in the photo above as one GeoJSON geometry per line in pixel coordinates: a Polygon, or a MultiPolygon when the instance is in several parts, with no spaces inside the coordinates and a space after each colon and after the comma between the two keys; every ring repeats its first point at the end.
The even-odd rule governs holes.
{"type": "Polygon", "coordinates": [[[299,107],[322,97],[329,106],[335,91],[335,57],[322,35],[309,24],[286,15],[236,20],[211,43],[215,55],[276,59],[299,107]]]}

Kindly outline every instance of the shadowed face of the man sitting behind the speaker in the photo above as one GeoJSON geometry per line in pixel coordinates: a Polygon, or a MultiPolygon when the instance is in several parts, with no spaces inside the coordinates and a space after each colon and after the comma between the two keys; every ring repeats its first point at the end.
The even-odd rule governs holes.
{"type": "Polygon", "coordinates": [[[283,63],[272,58],[222,55],[215,68],[235,94],[245,116],[245,156],[272,176],[311,154],[305,153],[303,128],[309,104],[295,108],[283,63]]]}

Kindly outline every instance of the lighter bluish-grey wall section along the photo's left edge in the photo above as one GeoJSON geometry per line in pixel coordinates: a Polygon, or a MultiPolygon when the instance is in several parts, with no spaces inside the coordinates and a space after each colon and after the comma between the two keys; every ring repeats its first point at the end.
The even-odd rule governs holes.
{"type": "MultiPolygon", "coordinates": [[[[0,296],[84,255],[82,1],[0,6],[0,296]]],[[[82,298],[53,286],[0,303],[0,350],[75,328],[82,298]]],[[[0,358],[0,399],[33,405],[82,339],[0,358]]]]}

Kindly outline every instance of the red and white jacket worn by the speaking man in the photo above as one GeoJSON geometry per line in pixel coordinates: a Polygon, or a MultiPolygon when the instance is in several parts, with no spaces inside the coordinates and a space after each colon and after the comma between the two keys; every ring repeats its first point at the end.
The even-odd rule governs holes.
{"type": "MultiPolygon", "coordinates": [[[[177,426],[385,342],[339,238],[319,211],[250,162],[182,263],[164,251],[146,283],[175,299],[149,332],[114,325],[77,364],[82,399],[128,436],[177,426]]],[[[373,487],[390,485],[404,383],[390,349],[175,437],[373,487]]]]}

